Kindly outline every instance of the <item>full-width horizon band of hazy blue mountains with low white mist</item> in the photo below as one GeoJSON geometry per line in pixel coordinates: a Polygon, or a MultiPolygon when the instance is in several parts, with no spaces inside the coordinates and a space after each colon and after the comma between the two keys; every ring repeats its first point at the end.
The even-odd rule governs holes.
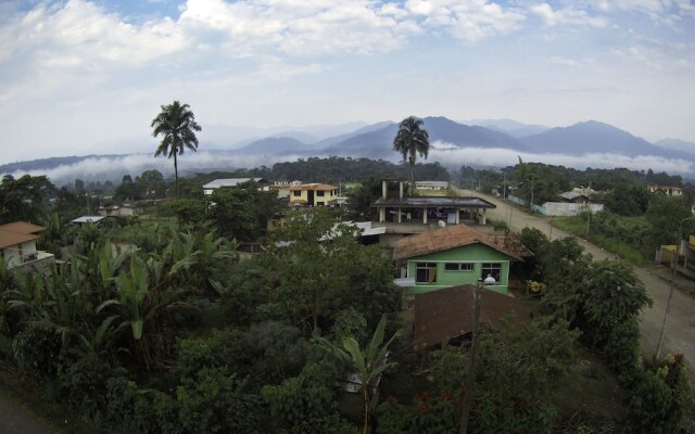
{"type": "MultiPolygon", "coordinates": [[[[681,168],[681,171],[687,171],[695,167],[695,143],[678,139],[666,139],[650,143],[628,131],[596,120],[556,128],[525,125],[511,119],[455,122],[439,116],[425,117],[422,120],[424,128],[429,133],[432,149],[442,153],[476,149],[479,152],[482,152],[482,150],[488,152],[491,150],[506,150],[514,153],[531,154],[536,161],[547,159],[552,164],[555,162],[553,156],[557,155],[583,157],[593,154],[599,155],[598,158],[601,158],[601,155],[607,154],[626,158],[649,156],[659,161],[678,161],[680,162],[679,167],[685,167],[684,169],[681,168]]],[[[198,154],[201,154],[200,151],[208,151],[214,156],[207,159],[203,158],[205,162],[201,162],[199,166],[219,169],[224,168],[224,162],[229,164],[233,158],[241,161],[240,157],[244,157],[244,161],[249,162],[248,164],[257,165],[268,165],[268,163],[283,161],[283,158],[325,157],[331,155],[396,161],[399,155],[393,152],[392,143],[397,128],[399,125],[393,122],[381,122],[371,125],[352,123],[333,127],[306,127],[305,129],[288,127],[285,130],[277,128],[266,130],[233,129],[233,127],[214,126],[210,128],[212,137],[208,137],[205,135],[207,129],[203,126],[203,131],[199,133],[201,145],[198,154]],[[266,133],[265,137],[242,138],[243,133],[255,136],[264,132],[266,133]],[[219,143],[229,143],[229,140],[226,140],[225,137],[236,139],[235,143],[220,145],[219,143]]],[[[80,162],[91,158],[92,161],[100,161],[102,168],[104,167],[103,162],[119,161],[119,165],[114,167],[114,170],[121,170],[121,175],[111,178],[112,180],[118,180],[124,170],[126,173],[129,170],[128,162],[132,164],[136,161],[142,161],[144,163],[141,163],[141,165],[144,165],[146,169],[162,169],[162,167],[166,167],[163,161],[160,158],[155,161],[151,156],[151,153],[149,155],[130,154],[127,156],[111,154],[35,159],[1,165],[0,174],[23,171],[37,174],[41,170],[53,170],[52,177],[55,177],[58,168],[71,166],[74,167],[72,171],[76,174],[65,174],[64,176],[72,176],[72,180],[74,180],[76,177],[80,177],[80,162]],[[139,156],[139,159],[136,156],[139,156]]],[[[186,158],[193,157],[190,153],[187,153],[186,158]]],[[[604,161],[606,158],[610,159],[610,157],[603,157],[604,161]]],[[[445,159],[445,157],[442,159],[445,159]]],[[[108,167],[108,164],[105,166],[108,167]]],[[[226,168],[229,167],[227,166],[226,168]]],[[[135,167],[131,170],[138,169],[139,167],[135,167]]],[[[64,171],[59,173],[63,174],[64,171]]],[[[71,170],[67,171],[70,173],[71,170]]],[[[130,173],[134,174],[134,171],[130,173]]],[[[94,176],[98,176],[100,173],[94,171],[94,176]]],[[[135,171],[135,174],[139,174],[139,171],[135,171]]]]}

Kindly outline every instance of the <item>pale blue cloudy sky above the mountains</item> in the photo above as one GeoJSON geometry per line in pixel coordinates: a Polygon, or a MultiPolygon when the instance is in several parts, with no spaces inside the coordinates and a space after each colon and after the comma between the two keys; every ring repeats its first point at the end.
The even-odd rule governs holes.
{"type": "Polygon", "coordinates": [[[695,142],[692,0],[2,0],[0,164],[206,126],[601,120],[695,142]]]}

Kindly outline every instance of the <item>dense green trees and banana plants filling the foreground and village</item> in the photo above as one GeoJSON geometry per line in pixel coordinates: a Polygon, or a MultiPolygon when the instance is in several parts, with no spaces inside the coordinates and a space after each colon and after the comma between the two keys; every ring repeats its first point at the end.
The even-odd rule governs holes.
{"type": "MultiPolygon", "coordinates": [[[[448,179],[438,164],[416,168],[419,179],[448,179]]],[[[186,177],[178,201],[160,201],[175,190],[146,171],[110,193],[149,204],[148,216],[83,228],[65,221],[108,201],[94,196],[94,186],[56,189],[45,177],[5,177],[2,222],[42,224],[42,246],[62,250],[67,263],[43,273],[0,266],[0,358],[94,432],[457,432],[469,348],[442,343],[413,353],[388,252],[359,244],[339,224],[369,218],[380,193],[376,176],[404,169],[308,158],[186,177]],[[202,184],[222,177],[363,182],[346,209],[288,213],[255,182],[206,201],[202,184]],[[138,248],[119,253],[116,242],[138,248]],[[241,242],[263,248],[242,260],[241,242]],[[363,384],[380,378],[379,387],[348,394],[349,374],[363,384]]],[[[538,194],[548,195],[586,175],[566,180],[563,173],[520,163],[504,174],[505,181],[533,176],[547,192],[538,194]]],[[[687,199],[645,196],[629,182],[628,193],[616,195],[620,187],[610,190],[608,175],[632,173],[586,173],[595,177],[592,188],[605,182],[606,197],[629,197],[626,214],[637,215],[594,216],[590,235],[648,251],[674,238],[679,216],[690,213],[687,199]]],[[[585,220],[578,222],[585,230],[585,220]]],[[[650,301],[630,267],[591,263],[572,239],[551,242],[530,230],[520,238],[535,253],[528,272],[547,292],[527,301],[529,324],[509,318],[481,332],[484,369],[476,374],[470,432],[678,432],[690,396],[683,358],[641,359],[636,318],[650,301]],[[608,373],[581,368],[596,357],[608,373]],[[598,414],[594,401],[616,400],[615,390],[599,384],[619,390],[615,414],[598,414]]]]}

